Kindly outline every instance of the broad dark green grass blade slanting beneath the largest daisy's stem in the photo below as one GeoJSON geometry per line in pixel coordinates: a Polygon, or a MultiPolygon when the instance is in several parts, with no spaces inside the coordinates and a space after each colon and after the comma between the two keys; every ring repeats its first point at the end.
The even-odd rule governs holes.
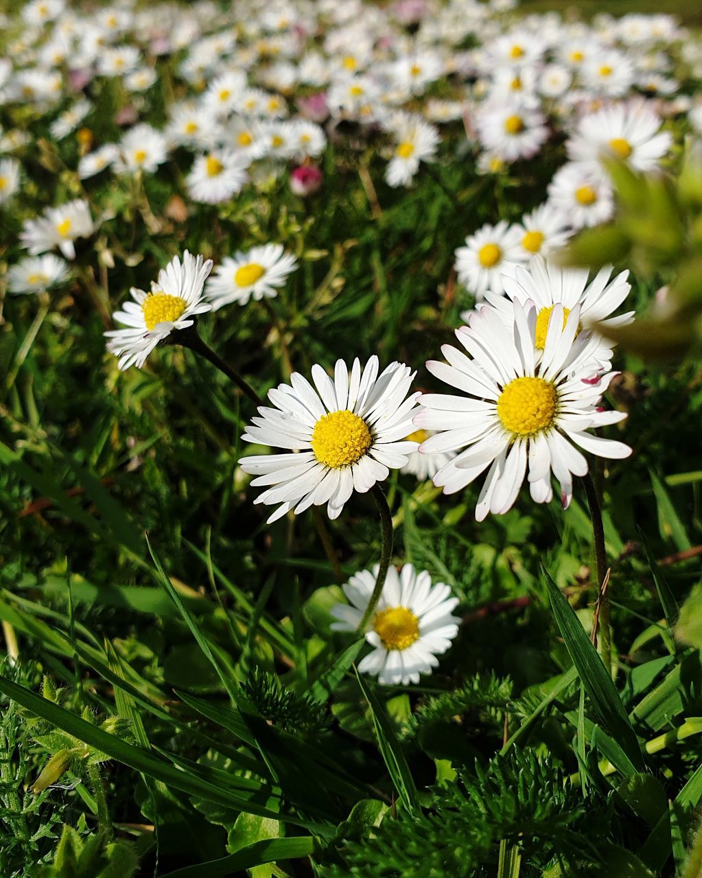
{"type": "Polygon", "coordinates": [[[619,743],[633,767],[637,771],[642,771],[644,760],[639,740],[634,734],[629,717],[626,716],[626,710],[612,682],[612,677],[605,670],[602,659],[590,643],[590,638],[575,615],[574,609],[563,597],[546,569],[542,568],[542,570],[546,579],[551,608],[561,630],[561,637],[563,637],[570,658],[573,659],[577,673],[583,681],[592,709],[604,730],[619,743]]]}

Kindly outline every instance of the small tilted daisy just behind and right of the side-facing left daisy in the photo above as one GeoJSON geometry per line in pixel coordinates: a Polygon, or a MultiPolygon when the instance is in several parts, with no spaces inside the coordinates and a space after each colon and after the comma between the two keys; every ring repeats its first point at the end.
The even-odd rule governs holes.
{"type": "Polygon", "coordinates": [[[205,296],[213,311],[231,302],[246,305],[251,298],[257,302],[264,296],[272,299],[296,268],[297,259],[282,244],[254,247],[226,256],[207,281],[205,296]]]}

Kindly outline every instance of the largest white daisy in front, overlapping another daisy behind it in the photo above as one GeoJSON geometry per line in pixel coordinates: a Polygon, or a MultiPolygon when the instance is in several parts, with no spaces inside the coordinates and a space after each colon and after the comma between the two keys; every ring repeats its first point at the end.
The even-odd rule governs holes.
{"type": "Polygon", "coordinates": [[[536,307],[532,302],[527,306],[515,302],[513,308],[510,326],[495,309],[483,306],[471,316],[470,326],[456,330],[469,356],[445,345],[442,350],[449,362],[430,361],[427,369],[467,396],[423,394],[414,419],[419,428],[442,431],[423,443],[421,451],[467,446],[434,477],[444,493],[460,491],[489,467],[475,507],[479,522],[489,512],[503,515],[512,507],[527,463],[532,500],[552,499],[553,471],[566,508],[573,495],[573,476],[588,471],[587,459],[575,445],[599,457],[631,454],[624,443],[585,432],[617,423],[626,414],[599,406],[617,373],[594,374],[592,356],[600,340],[588,332],[578,335],[580,306],[565,321],[563,306],[554,306],[539,357],[536,307]]]}

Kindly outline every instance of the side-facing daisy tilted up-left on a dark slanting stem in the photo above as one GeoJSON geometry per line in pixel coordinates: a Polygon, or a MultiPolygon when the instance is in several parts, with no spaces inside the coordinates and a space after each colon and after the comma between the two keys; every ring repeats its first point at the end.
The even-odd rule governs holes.
{"type": "Polygon", "coordinates": [[[211,259],[204,262],[202,256],[196,258],[185,250],[183,263],[174,256],[151,282],[150,292],[132,287],[134,302],[125,302],[123,311],[112,314],[125,328],[105,333],[107,349],[119,356],[119,369],[133,364],[141,369],[157,344],[172,332],[191,327],[198,314],[211,309],[202,298],[211,270],[211,259]]]}

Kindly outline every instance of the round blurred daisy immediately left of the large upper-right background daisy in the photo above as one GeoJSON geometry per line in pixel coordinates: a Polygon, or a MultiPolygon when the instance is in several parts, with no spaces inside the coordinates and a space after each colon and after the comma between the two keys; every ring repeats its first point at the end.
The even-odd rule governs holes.
{"type": "Polygon", "coordinates": [[[481,145],[505,162],[532,158],[548,138],[538,105],[522,102],[490,102],[476,119],[481,145]]]}

